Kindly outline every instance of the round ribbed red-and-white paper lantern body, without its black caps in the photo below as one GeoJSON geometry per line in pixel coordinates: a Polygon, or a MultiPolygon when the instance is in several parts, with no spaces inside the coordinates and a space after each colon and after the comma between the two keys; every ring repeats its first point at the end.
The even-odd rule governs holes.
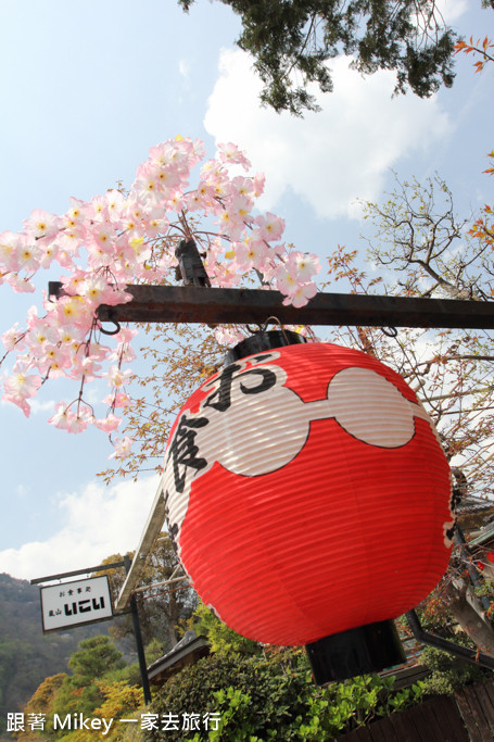
{"type": "Polygon", "coordinates": [[[230,364],[182,407],[164,481],[194,588],[257,641],[395,618],[448,563],[449,468],[433,425],[359,351],[306,343],[230,364]]]}

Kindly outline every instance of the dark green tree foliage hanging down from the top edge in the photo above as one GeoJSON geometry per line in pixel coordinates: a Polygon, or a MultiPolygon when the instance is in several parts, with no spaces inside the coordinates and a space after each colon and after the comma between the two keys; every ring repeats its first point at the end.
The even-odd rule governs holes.
{"type": "MultiPolygon", "coordinates": [[[[193,0],[178,0],[189,11],[193,0]]],[[[434,0],[221,0],[240,16],[238,46],[254,58],[261,99],[275,111],[317,111],[309,83],[332,89],[328,60],[352,54],[369,75],[396,73],[395,92],[421,98],[454,79],[455,34],[434,0]]]]}

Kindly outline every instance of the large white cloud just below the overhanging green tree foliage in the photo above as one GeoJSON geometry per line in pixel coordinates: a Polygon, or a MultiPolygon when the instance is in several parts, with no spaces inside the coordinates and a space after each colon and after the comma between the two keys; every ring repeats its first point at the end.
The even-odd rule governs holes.
{"type": "Polygon", "coordinates": [[[217,142],[239,144],[254,169],[266,173],[261,207],[273,209],[292,189],[319,216],[356,216],[356,199],[378,198],[400,158],[427,154],[449,131],[436,97],[392,98],[392,72],[363,78],[349,61],[331,62],[333,92],[317,95],[322,111],[301,120],[261,108],[251,58],[221,51],[204,126],[217,142]]]}

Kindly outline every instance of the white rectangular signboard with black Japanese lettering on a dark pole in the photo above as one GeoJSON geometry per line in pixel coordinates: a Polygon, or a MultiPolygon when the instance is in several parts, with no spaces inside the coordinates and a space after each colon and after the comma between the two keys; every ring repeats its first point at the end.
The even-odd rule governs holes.
{"type": "Polygon", "coordinates": [[[43,631],[112,618],[107,575],[41,588],[43,631]]]}

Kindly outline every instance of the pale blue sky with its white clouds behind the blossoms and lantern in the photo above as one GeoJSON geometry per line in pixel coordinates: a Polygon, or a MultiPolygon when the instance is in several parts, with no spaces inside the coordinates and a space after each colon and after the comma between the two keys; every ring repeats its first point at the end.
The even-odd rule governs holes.
{"type": "MultiPolygon", "coordinates": [[[[465,36],[492,35],[492,10],[445,0],[465,36]]],[[[189,15],[173,0],[3,0],[0,5],[0,231],[22,228],[33,209],[63,213],[130,185],[151,146],[177,134],[246,150],[266,173],[262,207],[287,219],[286,238],[320,256],[338,243],[362,249],[357,199],[380,200],[402,179],[435,171],[468,215],[493,201],[482,175],[492,140],[492,71],[457,60],[451,90],[421,101],[391,98],[393,77],[362,79],[347,60],[331,64],[334,92],[322,111],[295,120],[261,109],[258,80],[233,45],[239,24],[219,2],[189,15]]],[[[56,280],[50,272],[45,281],[56,280]]],[[[2,287],[1,331],[24,320],[34,297],[2,287]]],[[[53,397],[54,394],[54,397],[53,397]]],[[[75,391],[74,394],[75,395],[75,391]]],[[[0,571],[30,579],[98,564],[134,549],[156,482],[106,489],[96,473],[111,448],[98,431],[68,436],[47,424],[43,391],[27,420],[0,405],[0,571]]]]}

